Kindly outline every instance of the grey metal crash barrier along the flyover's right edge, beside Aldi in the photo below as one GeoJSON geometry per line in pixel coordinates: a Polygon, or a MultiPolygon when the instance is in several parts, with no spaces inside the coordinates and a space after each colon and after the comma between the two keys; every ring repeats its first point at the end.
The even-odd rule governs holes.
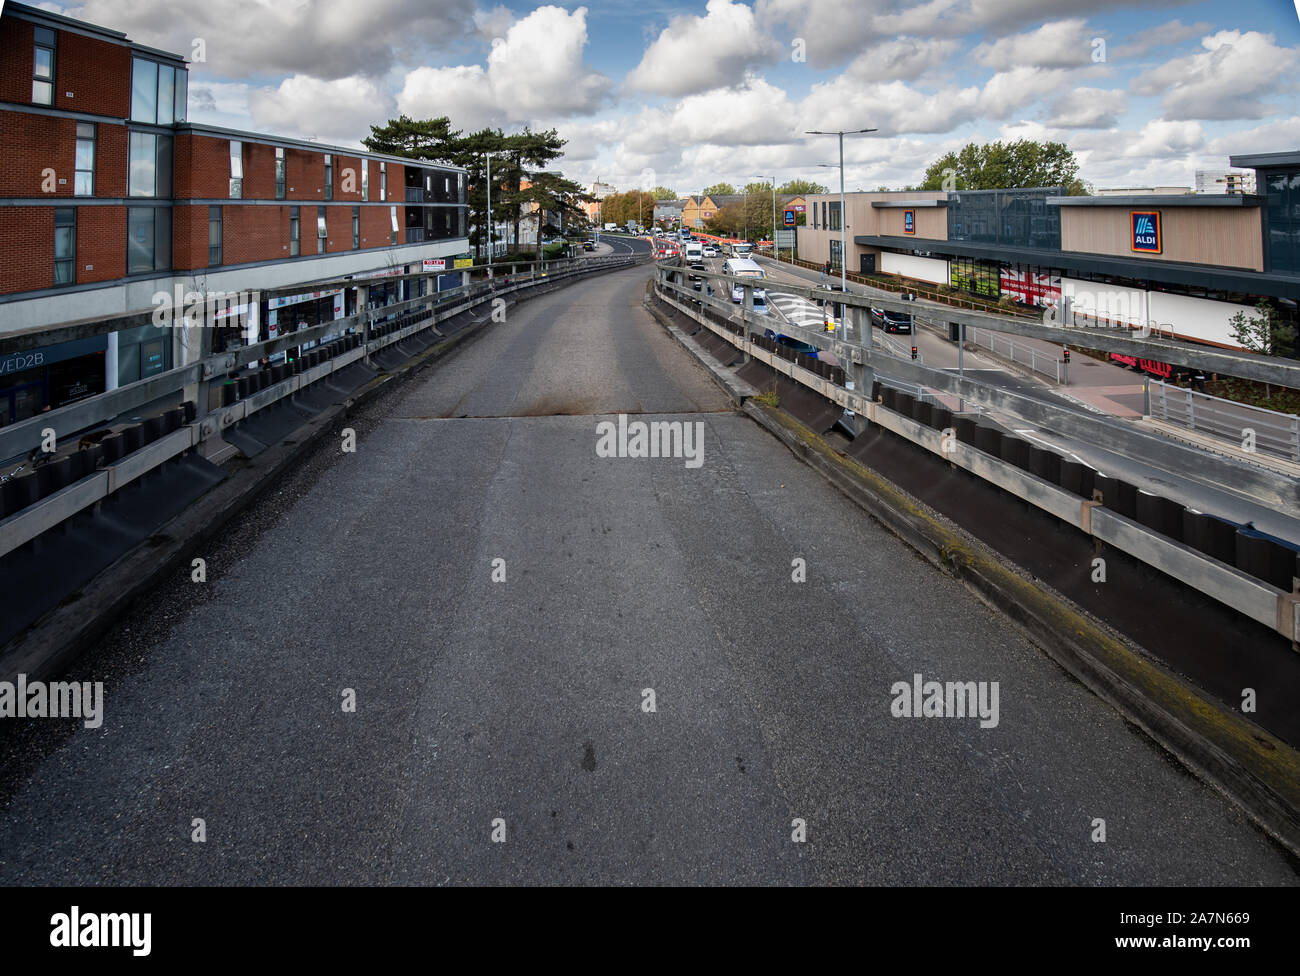
{"type": "MultiPolygon", "coordinates": [[[[858,379],[854,389],[848,389],[844,382],[845,372],[828,373],[826,364],[820,364],[820,368],[815,365],[819,360],[798,355],[792,357],[788,348],[749,333],[749,326],[759,324],[763,316],[734,321],[729,317],[731,308],[672,281],[679,270],[667,265],[656,269],[658,296],[701,322],[740,355],[767,364],[831,403],[853,411],[855,418],[878,424],[940,455],[1074,525],[1098,542],[1114,546],[1256,620],[1294,643],[1300,638],[1300,587],[1296,585],[1300,580],[1300,547],[1294,543],[1231,520],[1190,511],[1171,499],[1143,491],[1123,480],[1106,477],[1086,464],[982,424],[974,417],[954,416],[944,407],[883,385],[874,376],[866,348],[838,342],[835,343],[835,351],[841,361],[850,364],[858,379]],[[870,392],[864,395],[864,391],[870,392]]],[[[734,281],[746,289],[753,287],[753,279],[734,281]]],[[[842,302],[845,296],[837,295],[836,300],[842,302]]],[[[848,296],[845,304],[853,308],[853,296],[848,296]]],[[[749,311],[751,304],[746,302],[742,308],[749,311]]],[[[863,315],[859,324],[864,322],[863,315]]],[[[861,329],[857,334],[862,334],[861,329]]],[[[896,368],[904,369],[905,379],[939,389],[952,386],[950,381],[957,379],[944,370],[913,363],[893,359],[876,361],[888,365],[892,372],[896,368]]],[[[1002,391],[984,387],[983,383],[961,381],[959,387],[952,391],[967,400],[983,400],[982,405],[991,409],[1005,411],[1006,407],[1000,400],[1002,391]]],[[[1060,407],[1049,409],[1053,416],[1070,413],[1060,407]]],[[[1014,411],[1010,412],[1014,415],[1014,411]]],[[[1041,415],[1032,420],[1044,422],[1041,415]]],[[[1089,429],[1104,437],[1110,426],[1093,425],[1089,429]]],[[[1061,429],[1060,422],[1057,429],[1061,429]]],[[[1110,450],[1122,450],[1114,441],[1101,439],[1100,443],[1110,450]]],[[[1197,460],[1204,468],[1205,461],[1200,457],[1197,460]]],[[[1296,486],[1292,482],[1290,487],[1295,490],[1296,486]]]]}

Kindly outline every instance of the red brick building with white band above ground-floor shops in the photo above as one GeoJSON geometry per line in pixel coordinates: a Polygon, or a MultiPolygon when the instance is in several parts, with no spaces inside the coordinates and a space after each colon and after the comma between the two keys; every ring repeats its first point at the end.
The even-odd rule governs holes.
{"type": "MultiPolygon", "coordinates": [[[[187,95],[177,55],[4,5],[0,338],[148,309],[178,286],[255,294],[468,253],[464,170],[195,125],[187,95]]],[[[265,335],[355,311],[352,289],[304,294],[243,317],[265,335]]],[[[182,342],[146,327],[0,355],[0,425],[169,369],[182,342]]]]}

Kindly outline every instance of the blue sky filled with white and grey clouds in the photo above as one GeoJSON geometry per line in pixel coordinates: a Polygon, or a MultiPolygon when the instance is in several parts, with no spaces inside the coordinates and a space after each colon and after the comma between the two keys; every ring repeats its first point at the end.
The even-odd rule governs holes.
{"type": "Polygon", "coordinates": [[[556,127],[566,175],[681,194],[919,182],[970,140],[1057,139],[1098,187],[1300,148],[1292,0],[88,0],[190,57],[190,118],[356,146],[399,113],[556,127]],[[196,52],[205,60],[198,60],[196,52]]]}

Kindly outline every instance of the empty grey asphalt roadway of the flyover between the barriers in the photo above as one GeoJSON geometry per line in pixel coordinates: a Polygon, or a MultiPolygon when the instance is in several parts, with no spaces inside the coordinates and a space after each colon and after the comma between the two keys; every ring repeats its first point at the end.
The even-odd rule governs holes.
{"type": "Polygon", "coordinates": [[[731,411],[646,278],[372,402],[78,665],[101,728],[5,723],[0,882],[1295,884],[731,411]],[[702,464],[597,456],[619,413],[702,464]],[[914,674],[998,682],[997,724],[896,717],[914,674]]]}

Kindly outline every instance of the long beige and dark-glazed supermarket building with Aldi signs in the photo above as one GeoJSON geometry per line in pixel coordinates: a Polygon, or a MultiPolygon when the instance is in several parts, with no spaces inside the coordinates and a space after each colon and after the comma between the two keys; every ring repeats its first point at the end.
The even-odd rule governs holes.
{"type": "MultiPolygon", "coordinates": [[[[1260,195],[1065,196],[1062,187],[846,194],[848,269],[1102,320],[1154,321],[1236,347],[1228,320],[1268,299],[1296,320],[1300,151],[1232,156],[1260,195]]],[[[809,196],[798,255],[840,268],[840,196],[809,196]]]]}

